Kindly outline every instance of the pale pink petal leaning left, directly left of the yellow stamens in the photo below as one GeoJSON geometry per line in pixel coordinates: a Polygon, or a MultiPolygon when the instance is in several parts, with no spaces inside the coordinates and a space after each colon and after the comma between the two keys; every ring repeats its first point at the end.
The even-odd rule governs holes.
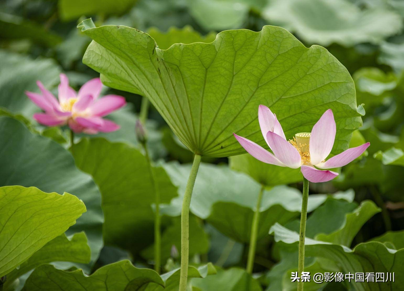
{"type": "Polygon", "coordinates": [[[297,169],[301,165],[301,157],[295,147],[274,132],[267,132],[269,147],[284,165],[297,169]]]}

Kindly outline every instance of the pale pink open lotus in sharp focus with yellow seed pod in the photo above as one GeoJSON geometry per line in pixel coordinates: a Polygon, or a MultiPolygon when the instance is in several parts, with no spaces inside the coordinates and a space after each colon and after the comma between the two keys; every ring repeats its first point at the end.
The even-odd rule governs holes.
{"type": "Polygon", "coordinates": [[[331,169],[347,165],[362,155],[370,145],[369,142],[366,142],[359,147],[347,149],[326,161],[326,157],[334,145],[336,133],[334,115],[331,109],[322,115],[311,132],[298,133],[293,140],[289,141],[286,140],[276,115],[268,107],[259,106],[258,121],[262,135],[274,154],[255,142],[234,134],[242,147],[250,155],[264,163],[292,169],[301,167],[303,176],[314,183],[330,181],[338,176],[336,172],[319,169],[331,169]]]}

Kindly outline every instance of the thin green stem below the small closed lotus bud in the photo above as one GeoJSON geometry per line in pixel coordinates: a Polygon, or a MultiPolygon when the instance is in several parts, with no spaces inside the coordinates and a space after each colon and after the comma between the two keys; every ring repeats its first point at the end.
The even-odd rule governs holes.
{"type": "Polygon", "coordinates": [[[156,217],[154,218],[154,270],[158,274],[160,274],[160,265],[161,265],[160,191],[158,189],[156,176],[154,174],[154,170],[151,165],[149,151],[147,150],[147,146],[145,143],[143,143],[143,149],[145,150],[147,165],[149,167],[152,191],[155,193],[154,200],[156,203],[156,211],[155,211],[156,217]]]}

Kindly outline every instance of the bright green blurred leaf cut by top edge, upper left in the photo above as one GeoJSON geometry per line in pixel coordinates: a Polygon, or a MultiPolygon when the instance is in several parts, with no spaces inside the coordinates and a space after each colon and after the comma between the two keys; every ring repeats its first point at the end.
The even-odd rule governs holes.
{"type": "Polygon", "coordinates": [[[136,0],[59,0],[59,15],[64,21],[78,19],[83,15],[113,15],[125,13],[136,0]]]}

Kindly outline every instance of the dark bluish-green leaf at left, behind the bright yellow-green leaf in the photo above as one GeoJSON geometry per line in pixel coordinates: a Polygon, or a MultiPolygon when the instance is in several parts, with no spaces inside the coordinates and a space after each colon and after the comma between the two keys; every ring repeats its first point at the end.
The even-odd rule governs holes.
{"type": "MultiPolygon", "coordinates": [[[[32,134],[21,122],[0,117],[0,185],[36,186],[42,191],[74,193],[87,211],[67,230],[70,235],[83,231],[91,249],[91,262],[82,265],[87,271],[102,248],[103,213],[101,195],[91,177],[74,165],[68,151],[53,140],[32,134]]],[[[77,265],[77,264],[76,264],[77,265]]]]}

